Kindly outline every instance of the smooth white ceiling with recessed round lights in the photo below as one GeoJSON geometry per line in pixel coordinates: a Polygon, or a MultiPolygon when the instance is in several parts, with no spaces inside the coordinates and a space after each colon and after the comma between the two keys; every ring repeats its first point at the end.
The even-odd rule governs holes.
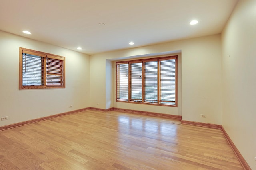
{"type": "Polygon", "coordinates": [[[220,33],[237,1],[0,0],[0,30],[95,54],[220,33]]]}

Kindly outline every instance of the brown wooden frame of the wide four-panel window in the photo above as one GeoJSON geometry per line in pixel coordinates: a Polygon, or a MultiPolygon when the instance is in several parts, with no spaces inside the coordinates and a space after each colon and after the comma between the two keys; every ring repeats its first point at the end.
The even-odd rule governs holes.
{"type": "Polygon", "coordinates": [[[171,106],[171,107],[178,107],[178,55],[174,56],[167,56],[167,57],[155,57],[155,58],[148,58],[148,59],[137,59],[137,60],[130,60],[130,61],[117,61],[116,62],[116,102],[126,102],[126,103],[136,103],[136,104],[149,104],[149,105],[158,105],[158,106],[171,106]],[[160,103],[160,61],[162,60],[168,60],[168,59],[175,59],[175,102],[174,104],[161,104],[160,103]],[[158,61],[158,74],[157,74],[157,103],[149,103],[145,102],[145,96],[144,96],[144,63],[150,62],[150,61],[158,61]],[[142,101],[133,101],[131,100],[131,88],[130,88],[130,64],[131,63],[140,63],[142,62],[142,101]],[[128,99],[127,100],[118,100],[118,72],[117,72],[117,65],[118,64],[129,64],[128,65],[128,99]]]}

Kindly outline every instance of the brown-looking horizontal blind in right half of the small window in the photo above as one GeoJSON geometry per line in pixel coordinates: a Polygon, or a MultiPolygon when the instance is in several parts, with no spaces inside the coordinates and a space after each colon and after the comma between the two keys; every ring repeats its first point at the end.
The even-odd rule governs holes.
{"type": "Polygon", "coordinates": [[[63,60],[46,58],[46,85],[63,86],[63,60]]]}

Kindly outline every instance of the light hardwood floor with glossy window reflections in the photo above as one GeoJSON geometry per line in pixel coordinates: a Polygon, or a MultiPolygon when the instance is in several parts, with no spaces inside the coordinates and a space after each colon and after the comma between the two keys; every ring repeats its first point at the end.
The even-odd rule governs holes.
{"type": "Polygon", "coordinates": [[[1,170],[241,170],[219,129],[86,110],[0,131],[1,170]]]}

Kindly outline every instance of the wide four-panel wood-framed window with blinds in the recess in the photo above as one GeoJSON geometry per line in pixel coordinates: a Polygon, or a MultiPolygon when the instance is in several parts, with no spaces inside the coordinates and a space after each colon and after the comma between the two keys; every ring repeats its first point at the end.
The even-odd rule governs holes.
{"type": "Polygon", "coordinates": [[[116,62],[116,101],[177,106],[177,56],[116,62]]]}

